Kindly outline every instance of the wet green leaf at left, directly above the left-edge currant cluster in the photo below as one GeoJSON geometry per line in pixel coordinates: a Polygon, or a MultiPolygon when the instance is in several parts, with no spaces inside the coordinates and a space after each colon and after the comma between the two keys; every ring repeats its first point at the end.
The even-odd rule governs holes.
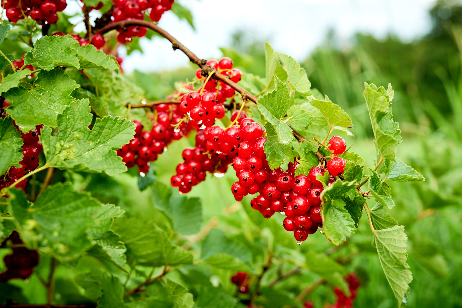
{"type": "Polygon", "coordinates": [[[58,114],[74,101],[70,94],[78,86],[62,68],[38,72],[30,88],[20,85],[3,95],[12,104],[6,111],[23,132],[39,124],[55,127],[58,114]]]}

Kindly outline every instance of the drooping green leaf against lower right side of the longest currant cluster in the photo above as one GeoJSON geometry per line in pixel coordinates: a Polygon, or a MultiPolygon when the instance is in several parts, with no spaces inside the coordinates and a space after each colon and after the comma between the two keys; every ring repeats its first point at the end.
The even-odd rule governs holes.
{"type": "Polygon", "coordinates": [[[355,222],[345,208],[341,198],[348,191],[355,189],[354,182],[335,181],[324,188],[321,193],[322,230],[324,235],[334,245],[345,242],[347,236],[352,236],[356,230],[355,222]]]}

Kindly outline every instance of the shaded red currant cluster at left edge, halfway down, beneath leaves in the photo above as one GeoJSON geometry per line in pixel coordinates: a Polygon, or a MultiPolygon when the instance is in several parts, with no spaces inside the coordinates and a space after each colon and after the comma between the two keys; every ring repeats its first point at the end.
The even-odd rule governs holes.
{"type": "MultiPolygon", "coordinates": [[[[42,144],[40,143],[38,136],[40,135],[40,129],[43,125],[38,125],[34,130],[29,133],[21,133],[23,139],[23,160],[19,162],[20,168],[11,167],[6,171],[4,175],[0,175],[0,190],[10,186],[14,182],[18,181],[27,170],[32,171],[38,167],[38,154],[43,151],[42,144]]],[[[18,127],[16,127],[17,130],[18,127]]],[[[16,184],[16,187],[25,189],[27,180],[23,180],[16,184]]],[[[5,196],[6,198],[8,195],[5,196]]]]}

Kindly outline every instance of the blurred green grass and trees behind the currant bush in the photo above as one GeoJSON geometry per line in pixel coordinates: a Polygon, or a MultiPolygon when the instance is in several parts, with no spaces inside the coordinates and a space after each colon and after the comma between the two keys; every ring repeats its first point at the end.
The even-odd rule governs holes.
{"type": "MultiPolygon", "coordinates": [[[[351,47],[343,48],[331,32],[302,65],[312,87],[352,117],[355,137],[345,137],[346,141],[354,143],[353,150],[370,166],[375,153],[363,82],[393,85],[393,113],[403,134],[398,157],[426,177],[425,182],[389,183],[397,205],[391,215],[405,226],[409,237],[413,282],[408,307],[462,307],[462,6],[439,1],[430,13],[432,30],[419,40],[401,42],[394,36],[377,40],[358,34],[351,47]]],[[[222,51],[236,67],[264,76],[264,42],[238,32],[231,46],[222,51]]],[[[133,78],[146,90],[147,98],[155,100],[173,91],[175,81],[191,78],[194,71],[193,66],[161,74],[135,71],[133,78]]],[[[188,142],[192,144],[192,140],[178,141],[171,145],[169,155],[160,156],[155,163],[159,180],[169,181],[188,142]]],[[[226,178],[231,182],[233,176],[228,173],[226,178]]],[[[208,179],[190,194],[202,198],[204,222],[235,203],[222,179],[208,179]]],[[[351,242],[370,253],[356,256],[353,248],[348,252],[354,255],[348,268],[365,281],[355,306],[395,307],[365,220],[351,242]]],[[[323,236],[311,236],[301,249],[324,251],[329,246],[326,242],[323,236]]],[[[291,287],[290,279],[281,286],[291,287]]],[[[325,288],[313,294],[316,307],[322,306],[325,296],[325,288]]]]}

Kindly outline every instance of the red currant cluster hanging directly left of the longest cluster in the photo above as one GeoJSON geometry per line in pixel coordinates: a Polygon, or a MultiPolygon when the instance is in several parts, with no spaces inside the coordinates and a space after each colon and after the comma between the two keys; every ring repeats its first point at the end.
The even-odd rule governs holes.
{"type": "MultiPolygon", "coordinates": [[[[237,123],[243,118],[245,114],[239,110],[231,115],[231,121],[236,120],[237,123]]],[[[228,165],[236,157],[237,144],[220,149],[219,144],[213,140],[216,130],[223,132],[223,128],[217,126],[198,130],[195,137],[195,148],[183,150],[184,163],[176,166],[176,174],[170,178],[170,184],[178,187],[180,193],[188,193],[193,186],[204,181],[207,171],[212,174],[224,174],[228,170],[228,165]],[[216,145],[216,148],[213,149],[210,145],[216,145]]]]}

